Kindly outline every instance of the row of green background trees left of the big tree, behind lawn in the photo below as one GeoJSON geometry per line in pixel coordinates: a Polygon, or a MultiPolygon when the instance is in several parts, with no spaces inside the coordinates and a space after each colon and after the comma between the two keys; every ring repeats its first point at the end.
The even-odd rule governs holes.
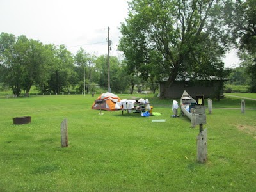
{"type": "MultiPolygon", "coordinates": [[[[125,92],[141,80],[127,74],[126,65],[110,56],[111,89],[125,92]]],[[[25,35],[0,35],[0,82],[19,96],[29,95],[32,86],[41,93],[93,92],[95,86],[108,86],[106,56],[88,54],[80,48],[75,55],[65,45],[42,44],[25,35]]]]}

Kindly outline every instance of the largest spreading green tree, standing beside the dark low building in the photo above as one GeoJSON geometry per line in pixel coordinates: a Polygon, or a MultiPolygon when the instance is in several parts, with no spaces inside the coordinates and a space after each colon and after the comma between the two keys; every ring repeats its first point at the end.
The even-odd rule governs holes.
{"type": "MultiPolygon", "coordinates": [[[[129,69],[144,77],[222,77],[227,41],[216,0],[133,0],[119,49],[129,69]]],[[[161,97],[166,90],[161,90],[161,97]]]]}

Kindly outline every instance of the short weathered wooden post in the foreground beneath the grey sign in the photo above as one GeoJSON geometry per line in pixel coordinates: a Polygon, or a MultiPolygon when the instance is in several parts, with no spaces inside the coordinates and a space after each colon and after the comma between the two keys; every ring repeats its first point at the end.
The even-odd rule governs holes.
{"type": "Polygon", "coordinates": [[[207,129],[197,136],[197,161],[201,163],[207,161],[207,129]]]}

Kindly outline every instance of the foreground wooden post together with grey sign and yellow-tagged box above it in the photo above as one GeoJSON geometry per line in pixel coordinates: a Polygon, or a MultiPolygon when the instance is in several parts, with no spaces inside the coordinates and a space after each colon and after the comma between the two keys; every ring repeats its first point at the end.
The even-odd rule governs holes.
{"type": "Polygon", "coordinates": [[[207,161],[207,129],[203,129],[203,124],[206,124],[204,95],[196,95],[196,103],[196,124],[199,124],[197,161],[204,163],[207,161]]]}

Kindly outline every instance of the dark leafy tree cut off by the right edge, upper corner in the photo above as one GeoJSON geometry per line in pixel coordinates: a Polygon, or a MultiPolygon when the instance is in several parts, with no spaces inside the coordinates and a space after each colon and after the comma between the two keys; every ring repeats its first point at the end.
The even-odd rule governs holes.
{"type": "Polygon", "coordinates": [[[223,12],[228,32],[239,49],[241,65],[250,77],[251,92],[256,92],[256,1],[229,0],[223,12]]]}

